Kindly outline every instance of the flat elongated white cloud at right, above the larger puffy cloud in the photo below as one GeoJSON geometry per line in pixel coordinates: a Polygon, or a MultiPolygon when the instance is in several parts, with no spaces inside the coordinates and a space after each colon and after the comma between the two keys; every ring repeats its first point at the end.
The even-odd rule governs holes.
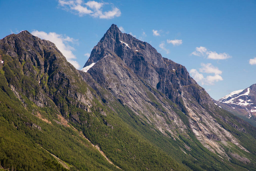
{"type": "Polygon", "coordinates": [[[209,51],[203,46],[196,47],[196,51],[192,52],[191,55],[204,56],[204,57],[207,57],[207,59],[219,59],[219,60],[228,59],[231,57],[226,53],[217,53],[215,51],[214,52],[209,51]]]}

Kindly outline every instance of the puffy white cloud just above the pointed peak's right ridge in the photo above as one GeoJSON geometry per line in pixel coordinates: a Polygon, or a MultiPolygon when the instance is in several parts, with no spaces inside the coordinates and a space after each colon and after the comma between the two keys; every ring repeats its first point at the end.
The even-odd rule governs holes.
{"type": "Polygon", "coordinates": [[[204,77],[202,73],[199,73],[196,69],[191,69],[189,71],[191,77],[193,77],[196,82],[201,83],[202,85],[214,85],[215,82],[223,80],[220,76],[222,71],[217,67],[213,66],[211,63],[201,63],[202,68],[199,69],[202,73],[214,74],[204,77]]]}

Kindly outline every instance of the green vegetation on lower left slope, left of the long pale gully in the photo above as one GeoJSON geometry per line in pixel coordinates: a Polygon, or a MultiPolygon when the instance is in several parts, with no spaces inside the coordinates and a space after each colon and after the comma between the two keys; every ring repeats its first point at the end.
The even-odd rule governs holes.
{"type": "MultiPolygon", "coordinates": [[[[49,154],[52,153],[70,164],[71,170],[119,170],[86,139],[81,138],[76,130],[57,124],[54,120],[59,119],[55,110],[38,108],[28,99],[25,100],[27,108],[24,108],[23,103],[15,97],[7,83],[6,77],[9,78],[10,83],[20,84],[13,74],[15,72],[10,70],[8,65],[4,65],[4,68],[6,75],[0,73],[0,165],[2,167],[6,169],[13,167],[14,170],[67,170],[49,154]],[[48,119],[49,123],[36,117],[37,112],[48,119]],[[33,124],[40,126],[40,129],[33,124]]],[[[35,91],[33,88],[28,88],[35,85],[34,81],[24,77],[30,83],[21,81],[21,84],[26,84],[22,86],[25,92],[35,91]]]]}

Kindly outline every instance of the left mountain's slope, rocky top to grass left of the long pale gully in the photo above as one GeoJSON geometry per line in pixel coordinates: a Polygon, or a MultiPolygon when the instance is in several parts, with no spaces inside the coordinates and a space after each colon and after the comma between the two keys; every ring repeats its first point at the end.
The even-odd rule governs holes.
{"type": "Polygon", "coordinates": [[[75,75],[78,72],[55,45],[24,31],[0,40],[0,47],[4,61],[0,66],[1,166],[14,170],[66,170],[53,154],[68,163],[71,170],[115,170],[63,118],[68,113],[67,100],[71,105],[83,99],[71,101],[64,95],[69,92],[79,96],[74,86],[79,83],[75,75]],[[73,83],[68,85],[72,89],[63,92],[68,83],[73,83]]]}

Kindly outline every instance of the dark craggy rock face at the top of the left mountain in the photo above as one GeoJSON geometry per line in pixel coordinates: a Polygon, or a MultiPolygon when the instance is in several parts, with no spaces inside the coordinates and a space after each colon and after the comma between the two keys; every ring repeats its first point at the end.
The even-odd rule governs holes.
{"type": "MultiPolygon", "coordinates": [[[[3,66],[6,79],[15,95],[26,105],[26,98],[39,107],[50,106],[68,117],[66,103],[86,109],[92,94],[74,66],[68,63],[54,43],[41,40],[28,31],[8,35],[0,40],[0,49],[15,66],[3,66]],[[80,88],[83,93],[79,90],[80,88]],[[77,91],[79,90],[79,91],[77,91]]],[[[76,114],[74,115],[74,118],[76,114]]]]}

